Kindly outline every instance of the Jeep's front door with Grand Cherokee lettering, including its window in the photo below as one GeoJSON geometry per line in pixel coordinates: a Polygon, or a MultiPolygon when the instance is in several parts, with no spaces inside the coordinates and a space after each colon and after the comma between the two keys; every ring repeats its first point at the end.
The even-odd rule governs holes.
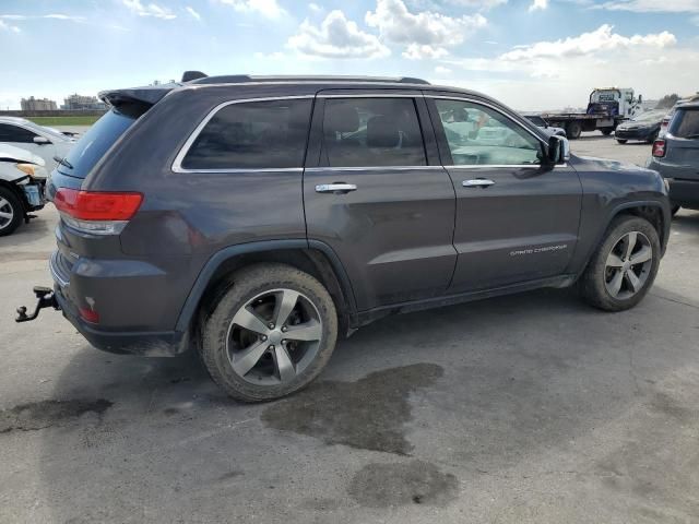
{"type": "Polygon", "coordinates": [[[582,199],[574,169],[543,167],[541,139],[494,105],[453,95],[426,99],[457,191],[450,293],[565,273],[582,199]]]}

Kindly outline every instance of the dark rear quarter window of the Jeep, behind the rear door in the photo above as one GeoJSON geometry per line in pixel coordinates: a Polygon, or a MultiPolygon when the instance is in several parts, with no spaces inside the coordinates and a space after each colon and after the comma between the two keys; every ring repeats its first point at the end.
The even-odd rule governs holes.
{"type": "Polygon", "coordinates": [[[303,167],[310,108],[310,99],[230,104],[206,123],[182,160],[182,167],[303,167]]]}

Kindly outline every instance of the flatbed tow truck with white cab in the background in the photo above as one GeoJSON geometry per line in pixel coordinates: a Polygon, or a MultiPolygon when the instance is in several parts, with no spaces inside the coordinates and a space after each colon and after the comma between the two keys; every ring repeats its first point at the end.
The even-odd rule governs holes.
{"type": "Polygon", "coordinates": [[[612,134],[624,120],[640,115],[641,95],[633,96],[631,87],[599,87],[590,93],[585,112],[544,114],[542,117],[554,127],[564,128],[569,139],[579,139],[583,131],[600,130],[612,134]]]}

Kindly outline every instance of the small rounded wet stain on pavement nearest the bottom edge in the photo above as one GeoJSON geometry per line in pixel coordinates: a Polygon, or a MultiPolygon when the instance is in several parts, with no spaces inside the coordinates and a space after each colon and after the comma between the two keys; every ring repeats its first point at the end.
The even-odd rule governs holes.
{"type": "Polygon", "coordinates": [[[457,498],[459,480],[429,462],[371,463],[355,474],[347,491],[367,508],[443,505],[457,498]]]}

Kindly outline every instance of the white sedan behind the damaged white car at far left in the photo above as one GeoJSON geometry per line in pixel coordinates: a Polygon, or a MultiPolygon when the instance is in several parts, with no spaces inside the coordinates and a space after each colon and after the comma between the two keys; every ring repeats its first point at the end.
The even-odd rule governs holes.
{"type": "Polygon", "coordinates": [[[54,157],[64,158],[75,144],[75,138],[52,128],[45,128],[19,117],[0,117],[0,146],[21,147],[44,158],[46,168],[56,167],[54,157]]]}

